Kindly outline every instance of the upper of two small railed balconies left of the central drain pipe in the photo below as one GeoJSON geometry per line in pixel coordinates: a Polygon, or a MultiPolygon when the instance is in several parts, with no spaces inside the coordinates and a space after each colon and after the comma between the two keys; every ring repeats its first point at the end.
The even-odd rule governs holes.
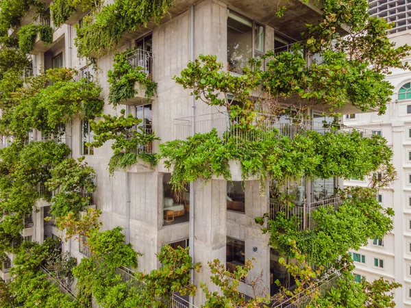
{"type": "MultiPolygon", "coordinates": [[[[127,53],[127,62],[132,68],[142,68],[142,71],[147,74],[147,78],[151,80],[153,73],[153,53],[151,51],[145,51],[142,49],[136,49],[127,53]]],[[[145,103],[151,99],[147,97],[145,86],[136,82],[134,84],[134,90],[137,91],[134,97],[123,101],[123,105],[136,105],[138,103],[145,103]]]]}

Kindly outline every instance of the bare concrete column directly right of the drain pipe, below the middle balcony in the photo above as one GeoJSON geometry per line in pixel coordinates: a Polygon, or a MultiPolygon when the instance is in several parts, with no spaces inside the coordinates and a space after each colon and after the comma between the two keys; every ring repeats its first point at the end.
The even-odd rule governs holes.
{"type": "MultiPolygon", "coordinates": [[[[195,273],[195,284],[206,283],[214,292],[218,288],[210,281],[208,261],[219,259],[225,264],[227,242],[227,183],[210,180],[207,185],[195,182],[195,262],[202,268],[195,273]]],[[[190,237],[192,235],[190,234],[190,237]]],[[[200,307],[206,297],[199,289],[195,305],[200,307]]]]}

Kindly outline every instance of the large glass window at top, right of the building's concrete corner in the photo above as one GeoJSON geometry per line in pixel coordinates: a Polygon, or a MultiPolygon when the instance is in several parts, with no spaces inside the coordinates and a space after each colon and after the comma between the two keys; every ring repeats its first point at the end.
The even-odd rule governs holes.
{"type": "Polygon", "coordinates": [[[242,74],[251,58],[264,55],[265,28],[228,10],[227,18],[227,69],[242,74]]]}

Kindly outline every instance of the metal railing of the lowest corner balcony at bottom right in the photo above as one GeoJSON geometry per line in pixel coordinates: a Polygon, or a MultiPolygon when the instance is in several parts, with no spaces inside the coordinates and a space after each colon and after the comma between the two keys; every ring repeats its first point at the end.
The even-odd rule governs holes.
{"type": "Polygon", "coordinates": [[[281,303],[279,304],[275,303],[274,300],[273,302],[275,303],[275,305],[273,305],[272,308],[307,307],[308,305],[310,305],[315,296],[325,296],[325,294],[327,294],[327,292],[329,292],[333,287],[337,287],[338,280],[340,279],[341,272],[343,272],[343,270],[345,269],[343,268],[342,270],[330,270],[325,274],[325,277],[323,277],[321,281],[308,288],[308,290],[304,290],[303,292],[300,292],[292,298],[276,300],[277,302],[281,301],[281,303]]]}

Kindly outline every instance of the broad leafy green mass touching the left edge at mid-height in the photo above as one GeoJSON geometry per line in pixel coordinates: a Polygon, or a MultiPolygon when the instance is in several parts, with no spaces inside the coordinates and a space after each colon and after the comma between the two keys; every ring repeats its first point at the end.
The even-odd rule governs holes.
{"type": "Polygon", "coordinates": [[[0,151],[0,229],[14,237],[23,229],[23,218],[33,211],[39,197],[37,186],[51,177],[51,166],[70,153],[65,144],[13,142],[0,151]],[[4,212],[3,212],[4,211],[4,212]]]}

